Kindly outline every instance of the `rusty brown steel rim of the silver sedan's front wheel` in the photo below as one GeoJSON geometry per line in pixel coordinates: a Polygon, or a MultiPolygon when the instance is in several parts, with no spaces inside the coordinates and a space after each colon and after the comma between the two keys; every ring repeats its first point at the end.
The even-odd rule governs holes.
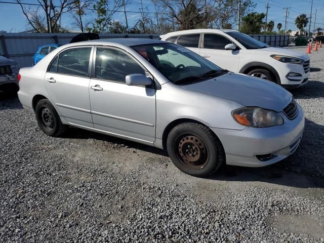
{"type": "Polygon", "coordinates": [[[174,148],[181,164],[191,170],[201,170],[208,164],[208,148],[197,135],[191,133],[179,135],[174,148]]]}

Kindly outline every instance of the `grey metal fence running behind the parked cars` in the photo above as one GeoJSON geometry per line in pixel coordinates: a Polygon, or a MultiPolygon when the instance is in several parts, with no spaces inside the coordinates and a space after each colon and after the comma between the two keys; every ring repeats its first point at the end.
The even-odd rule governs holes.
{"type": "MultiPolygon", "coordinates": [[[[32,56],[39,46],[65,44],[78,33],[4,33],[0,35],[0,53],[17,61],[20,67],[32,65],[32,56]]],[[[159,34],[99,34],[100,38],[154,38],[159,34]]],[[[250,35],[273,47],[288,45],[287,35],[250,35]]]]}

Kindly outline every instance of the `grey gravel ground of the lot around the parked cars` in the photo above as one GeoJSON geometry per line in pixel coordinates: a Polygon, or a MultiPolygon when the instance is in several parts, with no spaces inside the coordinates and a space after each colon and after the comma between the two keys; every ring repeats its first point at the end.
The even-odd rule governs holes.
{"type": "Polygon", "coordinates": [[[0,242],[323,242],[324,48],[310,57],[310,82],[292,91],[306,114],[296,153],[207,179],[137,143],[48,137],[0,93],[0,242]]]}

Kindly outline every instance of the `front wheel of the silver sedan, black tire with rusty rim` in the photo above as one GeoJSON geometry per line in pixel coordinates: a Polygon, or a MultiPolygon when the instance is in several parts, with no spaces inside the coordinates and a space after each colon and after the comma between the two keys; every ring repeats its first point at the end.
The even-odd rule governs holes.
{"type": "Polygon", "coordinates": [[[196,123],[174,127],[167,138],[167,150],[179,170],[196,177],[213,174],[225,161],[219,139],[209,128],[196,123]]]}

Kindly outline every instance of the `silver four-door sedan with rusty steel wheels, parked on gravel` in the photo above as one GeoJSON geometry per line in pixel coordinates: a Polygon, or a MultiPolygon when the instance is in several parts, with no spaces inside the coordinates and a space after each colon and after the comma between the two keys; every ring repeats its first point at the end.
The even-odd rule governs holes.
{"type": "Polygon", "coordinates": [[[18,78],[20,102],[47,135],[72,126],[167,149],[193,176],[276,163],[304,130],[303,110],[285,89],[163,41],[65,45],[18,78]]]}

